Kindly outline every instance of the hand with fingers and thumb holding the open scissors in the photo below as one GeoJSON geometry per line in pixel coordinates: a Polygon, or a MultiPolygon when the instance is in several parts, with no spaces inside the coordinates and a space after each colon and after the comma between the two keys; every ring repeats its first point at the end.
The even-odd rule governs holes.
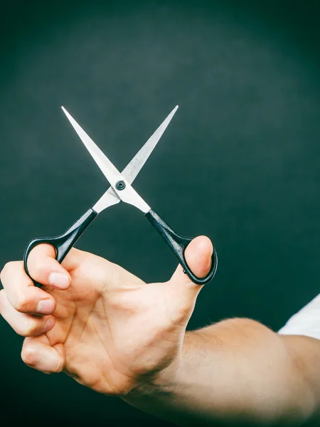
{"type": "MultiPolygon", "coordinates": [[[[210,270],[212,245],[194,239],[186,260],[198,277],[210,270]]],[[[124,396],[178,357],[201,286],[178,265],[166,283],[146,284],[91,253],[73,248],[60,265],[52,246],[1,272],[0,313],[26,337],[21,357],[47,374],[65,371],[80,384],[124,396]]]]}

